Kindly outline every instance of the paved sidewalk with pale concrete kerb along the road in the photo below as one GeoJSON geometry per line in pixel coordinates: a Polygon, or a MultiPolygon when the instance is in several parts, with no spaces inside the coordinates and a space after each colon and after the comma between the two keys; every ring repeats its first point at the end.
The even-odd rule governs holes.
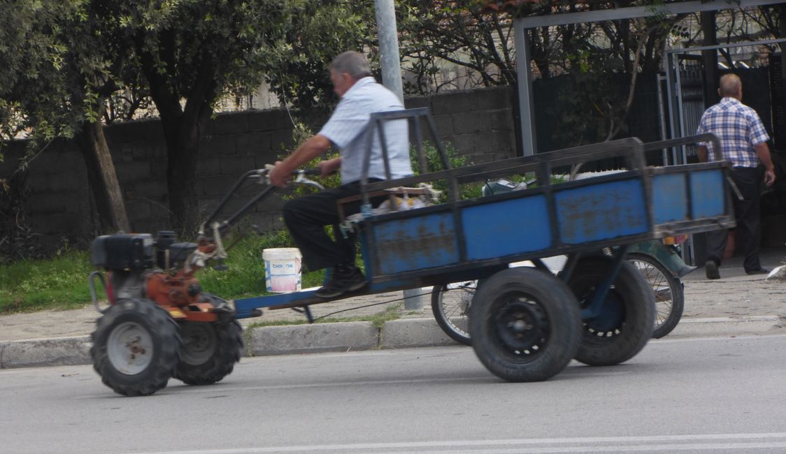
{"type": "MultiPolygon", "coordinates": [[[[786,248],[762,251],[761,258],[767,269],[784,265],[786,248]]],[[[725,262],[720,273],[721,279],[707,280],[699,268],[685,278],[685,312],[670,336],[744,335],[782,326],[786,320],[786,280],[747,276],[739,257],[725,262]]],[[[352,310],[331,317],[373,315],[393,306],[402,318],[387,322],[381,330],[370,322],[253,328],[245,331],[247,354],[455,345],[434,322],[430,294],[421,299],[424,307],[417,311],[402,308],[401,291],[314,305],[314,317],[343,309],[352,310]]],[[[89,336],[98,315],[93,306],[86,306],[0,316],[0,368],[89,364],[89,336]]],[[[262,317],[241,320],[241,325],[247,328],[263,320],[304,318],[292,309],[265,310],[262,317]]]]}

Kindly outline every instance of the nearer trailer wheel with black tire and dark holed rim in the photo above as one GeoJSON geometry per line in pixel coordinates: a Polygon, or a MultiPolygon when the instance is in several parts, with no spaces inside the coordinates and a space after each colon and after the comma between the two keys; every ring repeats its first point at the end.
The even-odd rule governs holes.
{"type": "Polygon", "coordinates": [[[530,268],[494,274],[470,306],[472,347],[490,372],[511,382],[537,382],[561,372],[581,332],[578,302],[556,277],[530,268]]]}

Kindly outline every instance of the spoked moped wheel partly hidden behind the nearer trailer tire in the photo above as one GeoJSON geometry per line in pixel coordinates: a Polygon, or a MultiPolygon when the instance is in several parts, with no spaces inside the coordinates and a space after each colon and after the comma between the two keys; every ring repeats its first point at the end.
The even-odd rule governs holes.
{"type": "Polygon", "coordinates": [[[435,285],[432,289],[432,313],[439,328],[450,339],[471,346],[469,337],[469,307],[475,297],[479,281],[468,280],[435,285]]]}

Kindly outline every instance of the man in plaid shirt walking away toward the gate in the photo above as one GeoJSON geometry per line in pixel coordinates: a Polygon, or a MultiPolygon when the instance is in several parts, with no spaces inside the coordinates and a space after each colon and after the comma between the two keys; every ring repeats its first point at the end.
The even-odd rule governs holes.
{"type": "MultiPolygon", "coordinates": [[[[739,200],[736,196],[732,196],[736,215],[736,240],[743,245],[745,251],[743,262],[745,273],[769,273],[762,268],[758,260],[762,178],[757,168],[761,161],[765,169],[764,183],[771,186],[775,181],[775,171],[766,143],[769,135],[756,111],[742,104],[742,82],[737,75],[724,75],[721,78],[718,94],[722,98],[721,101],[704,112],[696,134],[712,133],[718,136],[721,142],[722,159],[731,162],[732,181],[740,189],[744,198],[739,200]]],[[[712,151],[710,142],[699,144],[698,154],[701,162],[707,162],[708,147],[712,151]]],[[[726,230],[707,232],[707,262],[704,265],[707,279],[718,279],[721,276],[718,267],[721,265],[726,248],[727,234],[726,230]]]]}

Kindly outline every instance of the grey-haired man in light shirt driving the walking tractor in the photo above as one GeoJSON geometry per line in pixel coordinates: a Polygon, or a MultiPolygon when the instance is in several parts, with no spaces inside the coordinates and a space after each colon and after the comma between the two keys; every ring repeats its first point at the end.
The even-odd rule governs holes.
{"type": "MultiPolygon", "coordinates": [[[[284,205],[284,222],[303,254],[306,267],[310,270],[332,267],[331,281],[316,292],[321,298],[333,298],[365,286],[365,276],[354,265],[354,236],[345,238],[338,229],[340,220],[336,202],[360,193],[366,132],[372,127],[370,115],[404,108],[399,97],[374,80],[371,66],[362,53],[341,53],[332,61],[329,70],[333,91],[341,98],[336,110],[318,134],[310,137],[286,159],[276,163],[270,171],[270,182],[285,186],[292,170],[321,155],[331,145],[340,151],[340,157],[318,164],[323,176],[340,170],[340,187],[298,197],[284,205]],[[333,225],[335,241],[325,233],[325,225],[333,225]]],[[[391,178],[404,178],[413,174],[407,131],[406,119],[384,124],[391,178]]],[[[373,133],[369,181],[380,181],[386,178],[385,163],[380,135],[377,131],[373,133]]],[[[372,203],[382,200],[384,197],[372,199],[372,203]]],[[[359,211],[360,201],[343,206],[343,212],[347,215],[359,211]]]]}

